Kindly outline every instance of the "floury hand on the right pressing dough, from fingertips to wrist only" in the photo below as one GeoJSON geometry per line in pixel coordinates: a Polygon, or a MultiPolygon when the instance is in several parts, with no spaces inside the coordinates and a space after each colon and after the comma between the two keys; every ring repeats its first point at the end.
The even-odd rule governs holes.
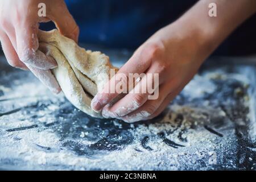
{"type": "Polygon", "coordinates": [[[113,77],[104,90],[93,98],[92,108],[97,111],[102,109],[102,115],[106,118],[120,118],[126,122],[151,119],[159,115],[191,80],[209,55],[209,50],[212,50],[200,32],[180,31],[183,29],[179,23],[171,24],[142,44],[117,75],[129,77],[128,73],[145,73],[147,76],[125,97],[110,105],[109,102],[118,96],[117,92],[108,93],[107,85],[110,88],[117,85],[118,79],[113,77]],[[150,93],[134,92],[154,82],[148,73],[159,74],[159,97],[156,100],[148,100],[150,93]]]}

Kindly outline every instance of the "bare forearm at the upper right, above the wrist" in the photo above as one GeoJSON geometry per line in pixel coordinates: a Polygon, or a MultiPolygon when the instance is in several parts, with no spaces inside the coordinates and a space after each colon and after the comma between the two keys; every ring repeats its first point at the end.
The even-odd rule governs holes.
{"type": "Polygon", "coordinates": [[[256,11],[255,0],[200,0],[181,16],[176,23],[183,31],[200,32],[200,37],[215,49],[242,22],[256,11]],[[209,4],[216,3],[217,16],[210,17],[209,4]]]}

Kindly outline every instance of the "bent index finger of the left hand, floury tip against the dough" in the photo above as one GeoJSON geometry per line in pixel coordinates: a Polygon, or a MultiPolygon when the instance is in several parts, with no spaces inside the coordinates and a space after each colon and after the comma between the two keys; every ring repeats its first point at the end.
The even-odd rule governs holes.
{"type": "Polygon", "coordinates": [[[19,59],[26,65],[39,69],[57,67],[56,61],[38,50],[38,24],[26,22],[15,27],[16,47],[19,59]]]}

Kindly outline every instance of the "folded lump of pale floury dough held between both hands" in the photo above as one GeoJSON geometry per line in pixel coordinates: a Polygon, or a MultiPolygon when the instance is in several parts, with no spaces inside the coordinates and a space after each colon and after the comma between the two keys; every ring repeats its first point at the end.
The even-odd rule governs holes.
{"type": "Polygon", "coordinates": [[[92,117],[102,118],[90,107],[92,98],[110,79],[113,67],[101,52],[86,51],[58,30],[39,31],[39,49],[52,56],[58,67],[52,69],[65,97],[78,109],[92,117]]]}

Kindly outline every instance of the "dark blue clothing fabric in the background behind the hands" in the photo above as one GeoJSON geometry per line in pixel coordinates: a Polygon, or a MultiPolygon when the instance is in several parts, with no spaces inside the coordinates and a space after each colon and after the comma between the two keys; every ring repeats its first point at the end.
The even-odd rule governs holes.
{"type": "MultiPolygon", "coordinates": [[[[148,37],[179,18],[197,0],[66,0],[80,27],[80,42],[114,48],[137,48],[148,37]]],[[[40,28],[53,28],[48,24],[40,28]]],[[[247,21],[216,54],[255,51],[256,17],[247,21]],[[238,51],[239,49],[239,51],[238,51]]]]}

